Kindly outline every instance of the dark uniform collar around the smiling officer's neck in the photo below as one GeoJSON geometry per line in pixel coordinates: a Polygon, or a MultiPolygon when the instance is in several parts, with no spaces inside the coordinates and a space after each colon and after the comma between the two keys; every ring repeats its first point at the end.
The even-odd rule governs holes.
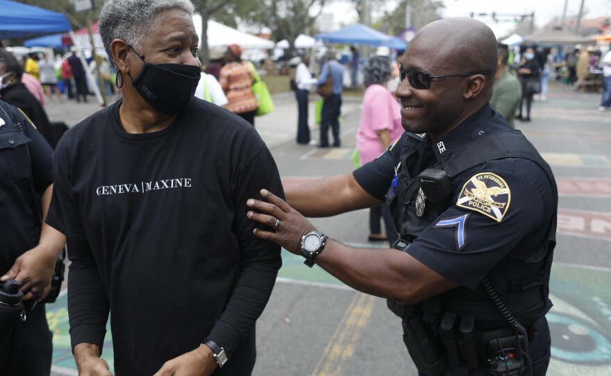
{"type": "MultiPolygon", "coordinates": [[[[465,120],[460,126],[453,129],[443,139],[433,144],[433,151],[435,151],[435,157],[437,161],[441,162],[441,155],[450,151],[453,148],[458,148],[463,144],[486,135],[490,132],[498,132],[499,130],[510,130],[506,121],[492,121],[499,117],[489,104],[480,108],[478,112],[471,115],[469,119],[465,120]]],[[[426,137],[428,142],[431,142],[430,136],[426,137]]]]}

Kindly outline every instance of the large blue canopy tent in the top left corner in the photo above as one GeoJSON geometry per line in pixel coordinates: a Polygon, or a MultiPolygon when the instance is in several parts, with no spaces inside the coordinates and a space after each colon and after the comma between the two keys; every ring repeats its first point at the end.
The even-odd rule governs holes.
{"type": "Polygon", "coordinates": [[[33,37],[69,30],[70,23],[60,12],[0,0],[0,39],[33,37]]]}

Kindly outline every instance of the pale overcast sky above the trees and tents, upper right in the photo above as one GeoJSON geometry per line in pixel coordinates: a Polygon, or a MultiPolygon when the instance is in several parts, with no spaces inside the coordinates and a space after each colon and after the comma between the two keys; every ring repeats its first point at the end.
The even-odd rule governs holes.
{"type": "MultiPolygon", "coordinates": [[[[471,12],[501,14],[530,14],[535,12],[535,23],[543,27],[553,17],[562,17],[565,0],[443,0],[446,8],[444,17],[469,17],[471,12]]],[[[387,11],[396,7],[396,0],[389,0],[387,11]]],[[[577,15],[581,0],[568,0],[567,17],[577,15]]],[[[611,16],[611,0],[584,0],[584,10],[587,9],[585,18],[611,16]]],[[[325,9],[334,15],[335,23],[351,24],[357,21],[357,13],[354,6],[347,1],[336,0],[325,9]]],[[[499,18],[499,17],[497,17],[499,18]]],[[[486,22],[485,17],[480,18],[486,22]]]]}

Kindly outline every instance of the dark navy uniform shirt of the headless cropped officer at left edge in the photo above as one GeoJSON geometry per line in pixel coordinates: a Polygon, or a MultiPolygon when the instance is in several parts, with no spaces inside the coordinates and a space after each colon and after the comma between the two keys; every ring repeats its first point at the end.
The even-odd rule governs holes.
{"type": "Polygon", "coordinates": [[[33,205],[37,204],[33,203],[31,187],[33,183],[36,193],[42,194],[53,182],[53,150],[21,111],[2,99],[0,108],[0,275],[3,275],[17,257],[38,244],[40,219],[34,214],[33,205]],[[19,123],[23,132],[15,123],[19,123]]]}

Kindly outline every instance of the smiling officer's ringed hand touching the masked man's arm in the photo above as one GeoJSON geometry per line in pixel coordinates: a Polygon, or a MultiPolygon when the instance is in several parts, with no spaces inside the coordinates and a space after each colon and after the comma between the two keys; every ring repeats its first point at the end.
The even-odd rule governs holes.
{"type": "Polygon", "coordinates": [[[254,230],[255,236],[273,241],[290,253],[300,255],[301,237],[308,232],[316,230],[315,227],[310,221],[305,219],[304,216],[290,207],[289,204],[285,203],[282,198],[271,194],[271,192],[266,189],[261,189],[261,196],[268,202],[266,203],[253,198],[249,199],[246,201],[246,205],[258,212],[250,211],[246,213],[246,216],[253,221],[268,225],[271,228],[275,227],[277,219],[280,220],[280,224],[274,232],[256,228],[254,230]]]}

